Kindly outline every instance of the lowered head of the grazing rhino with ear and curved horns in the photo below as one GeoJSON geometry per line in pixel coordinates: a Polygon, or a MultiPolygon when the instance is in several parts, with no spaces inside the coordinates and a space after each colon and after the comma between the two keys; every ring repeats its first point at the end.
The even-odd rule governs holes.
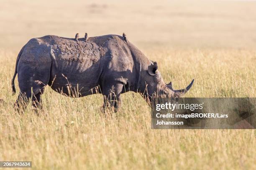
{"type": "Polygon", "coordinates": [[[181,90],[173,90],[172,82],[166,84],[159,72],[156,62],[151,62],[148,69],[145,70],[141,79],[145,82],[145,90],[143,95],[146,99],[151,101],[154,97],[181,97],[184,95],[192,86],[192,82],[185,88],[181,90]]]}

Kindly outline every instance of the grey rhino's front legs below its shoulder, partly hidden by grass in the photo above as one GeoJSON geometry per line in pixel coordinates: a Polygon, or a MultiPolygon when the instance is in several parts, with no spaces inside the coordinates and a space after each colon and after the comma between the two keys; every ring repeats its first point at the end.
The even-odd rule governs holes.
{"type": "Polygon", "coordinates": [[[116,83],[115,85],[108,85],[103,87],[102,95],[104,95],[103,110],[112,109],[117,112],[121,105],[121,92],[123,90],[123,83],[116,83]]]}

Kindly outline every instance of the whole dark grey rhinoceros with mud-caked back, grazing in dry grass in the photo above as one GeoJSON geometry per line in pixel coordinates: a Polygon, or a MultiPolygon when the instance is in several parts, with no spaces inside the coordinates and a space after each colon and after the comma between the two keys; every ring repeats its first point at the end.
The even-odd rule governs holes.
{"type": "Polygon", "coordinates": [[[173,90],[165,84],[156,62],[119,35],[79,38],[47,35],[33,38],[18,54],[15,74],[18,73],[20,94],[15,106],[26,108],[32,97],[34,108],[41,108],[41,95],[49,85],[69,97],[83,97],[96,93],[104,95],[103,107],[121,103],[120,94],[140,92],[151,102],[154,97],[179,97],[192,86],[173,90]],[[32,87],[32,90],[31,90],[32,87]],[[31,93],[33,91],[33,93],[31,93]]]}

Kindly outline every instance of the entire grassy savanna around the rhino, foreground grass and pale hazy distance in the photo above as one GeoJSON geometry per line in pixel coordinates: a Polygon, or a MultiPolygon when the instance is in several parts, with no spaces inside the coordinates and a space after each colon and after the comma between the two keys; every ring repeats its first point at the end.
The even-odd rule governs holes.
{"type": "Polygon", "coordinates": [[[256,168],[255,130],[151,130],[150,108],[133,92],[105,116],[102,95],[74,99],[46,87],[42,112],[29,105],[18,114],[10,86],[18,52],[32,37],[127,30],[174,89],[195,78],[186,97],[256,97],[255,2],[47,3],[0,6],[0,160],[31,160],[33,169],[256,168]]]}

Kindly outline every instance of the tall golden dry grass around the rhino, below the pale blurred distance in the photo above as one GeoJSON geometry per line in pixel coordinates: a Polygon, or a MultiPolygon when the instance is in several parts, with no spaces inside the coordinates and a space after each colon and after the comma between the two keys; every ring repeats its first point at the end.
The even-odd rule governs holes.
{"type": "MultiPolygon", "coordinates": [[[[144,51],[156,60],[154,52],[144,51]]],[[[161,74],[174,87],[184,87],[195,77],[187,97],[255,95],[254,52],[163,49],[158,54],[161,74]],[[172,56],[177,56],[174,62],[165,59],[172,56]]],[[[122,95],[119,112],[105,117],[100,111],[102,95],[73,99],[47,87],[44,112],[37,116],[29,106],[19,115],[10,88],[15,57],[1,52],[1,160],[32,160],[39,169],[255,166],[255,130],[151,130],[150,108],[132,92],[122,95]]]]}

